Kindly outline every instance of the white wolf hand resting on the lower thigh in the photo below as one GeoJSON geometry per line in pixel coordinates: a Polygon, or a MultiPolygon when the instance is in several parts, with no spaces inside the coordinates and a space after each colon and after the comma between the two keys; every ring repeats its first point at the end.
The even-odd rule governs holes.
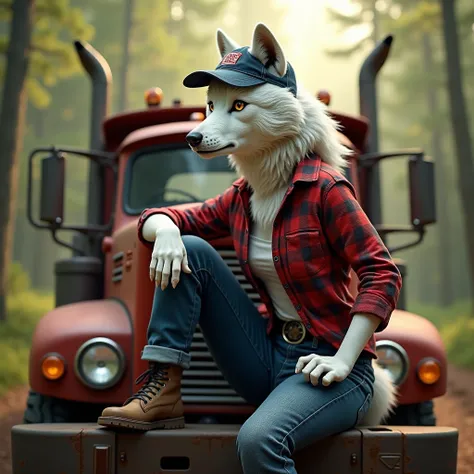
{"type": "Polygon", "coordinates": [[[295,373],[302,372],[306,382],[311,382],[313,385],[318,385],[319,377],[326,372],[322,379],[322,383],[326,387],[332,382],[342,382],[351,370],[352,367],[337,355],[329,357],[309,354],[300,357],[295,367],[295,373]]]}

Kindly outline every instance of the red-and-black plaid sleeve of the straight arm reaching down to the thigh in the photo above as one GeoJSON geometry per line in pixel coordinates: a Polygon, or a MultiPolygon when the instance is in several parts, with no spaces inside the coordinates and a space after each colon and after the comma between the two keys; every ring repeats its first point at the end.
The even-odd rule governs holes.
{"type": "Polygon", "coordinates": [[[336,180],[327,188],[323,215],[322,225],[331,247],[359,277],[359,293],[351,315],[369,313],[379,317],[377,332],[382,331],[400,294],[402,279],[397,266],[350,183],[336,180]]]}

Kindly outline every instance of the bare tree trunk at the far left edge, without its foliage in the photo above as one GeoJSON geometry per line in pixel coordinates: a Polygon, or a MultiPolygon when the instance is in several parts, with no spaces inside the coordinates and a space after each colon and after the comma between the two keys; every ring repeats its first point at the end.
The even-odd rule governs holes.
{"type": "Polygon", "coordinates": [[[0,320],[6,319],[6,280],[11,259],[18,186],[18,156],[26,118],[25,79],[34,0],[12,2],[12,20],[0,110],[0,320]]]}

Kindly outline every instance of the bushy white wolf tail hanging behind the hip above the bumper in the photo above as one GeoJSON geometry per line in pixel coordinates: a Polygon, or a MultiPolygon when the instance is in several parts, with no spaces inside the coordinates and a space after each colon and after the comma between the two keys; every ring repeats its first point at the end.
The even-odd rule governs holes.
{"type": "Polygon", "coordinates": [[[377,426],[392,412],[396,405],[397,389],[390,376],[376,362],[373,364],[374,397],[369,411],[360,422],[362,426],[377,426]]]}

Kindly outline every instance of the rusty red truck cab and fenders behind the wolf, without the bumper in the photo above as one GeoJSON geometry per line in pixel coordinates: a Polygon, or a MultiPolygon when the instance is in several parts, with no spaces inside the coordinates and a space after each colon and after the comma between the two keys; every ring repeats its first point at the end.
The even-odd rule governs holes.
{"type": "MultiPolygon", "coordinates": [[[[380,58],[386,57],[389,47],[382,42],[371,53],[372,88],[383,64],[380,58]]],[[[103,407],[122,404],[135,391],[134,380],[146,369],[140,350],[146,344],[154,292],[148,278],[151,251],[138,241],[138,217],[147,207],[199,206],[237,178],[226,156],[201,160],[186,144],[185,136],[205,118],[204,107],[183,106],[179,101],[162,107],[162,92],[153,88],[145,94],[144,109],[108,116],[108,65],[90,45],[76,43],[76,49],[92,79],[90,149],[37,149],[29,159],[30,221],[49,230],[58,244],[71,249],[72,256],[56,262],[56,308],[44,315],[34,333],[25,423],[95,422],[103,407]],[[86,226],[64,224],[65,167],[76,158],[91,161],[86,226]],[[32,170],[38,159],[39,218],[31,198],[32,170]],[[72,244],[59,239],[60,230],[75,234],[72,244]]],[[[328,93],[321,92],[319,98],[329,105],[328,93]]],[[[425,227],[435,222],[433,163],[420,150],[373,150],[370,117],[331,114],[341,124],[340,140],[354,151],[346,176],[369,217],[377,165],[391,158],[405,161],[411,225],[376,223],[376,227],[383,238],[410,232],[417,238],[408,245],[419,243],[425,227]]],[[[241,271],[230,236],[210,243],[260,305],[241,271]]],[[[405,264],[399,264],[403,274],[405,264]]],[[[352,286],[356,293],[355,274],[352,286]]],[[[191,367],[183,374],[187,422],[244,421],[254,408],[224,379],[199,328],[191,355],[191,367]]],[[[377,355],[398,387],[398,406],[387,423],[434,425],[432,400],[446,392],[446,354],[436,328],[407,311],[404,298],[388,327],[377,333],[377,355]]]]}

